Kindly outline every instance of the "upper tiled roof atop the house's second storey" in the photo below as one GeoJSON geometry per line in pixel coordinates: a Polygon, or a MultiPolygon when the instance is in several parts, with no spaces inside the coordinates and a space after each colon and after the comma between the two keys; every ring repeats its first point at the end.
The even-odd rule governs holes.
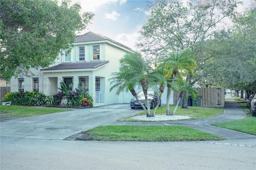
{"type": "MultiPolygon", "coordinates": [[[[94,33],[92,31],[89,31],[89,32],[85,33],[84,35],[76,36],[75,43],[83,43],[83,42],[89,42],[89,41],[101,41],[101,40],[108,40],[114,44],[117,44],[117,45],[127,48],[129,50],[132,50],[131,48],[129,48],[121,43],[118,43],[117,41],[115,41],[113,39],[102,36],[99,33],[94,33]]],[[[134,52],[134,50],[132,50],[132,51],[134,52]]]]}

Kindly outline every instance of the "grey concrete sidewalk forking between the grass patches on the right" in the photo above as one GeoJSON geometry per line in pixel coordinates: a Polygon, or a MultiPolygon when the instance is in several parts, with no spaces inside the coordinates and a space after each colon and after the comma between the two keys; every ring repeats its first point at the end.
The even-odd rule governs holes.
{"type": "Polygon", "coordinates": [[[226,98],[225,108],[222,115],[200,118],[197,120],[169,121],[169,122],[113,122],[111,125],[181,125],[219,135],[225,139],[255,138],[255,135],[238,132],[234,130],[211,126],[211,123],[239,120],[246,116],[243,110],[237,105],[234,99],[226,98]]]}

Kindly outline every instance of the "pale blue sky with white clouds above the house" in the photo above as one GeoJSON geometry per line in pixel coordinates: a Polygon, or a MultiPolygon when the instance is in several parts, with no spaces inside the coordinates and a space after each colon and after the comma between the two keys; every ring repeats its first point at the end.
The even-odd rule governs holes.
{"type": "MultiPolygon", "coordinates": [[[[186,0],[181,0],[186,1],[186,0]]],[[[242,12],[253,0],[243,0],[237,8],[242,12]]],[[[146,6],[154,1],[140,0],[72,0],[81,5],[81,12],[90,11],[95,15],[88,27],[79,34],[92,31],[116,40],[118,43],[136,49],[138,31],[147,20],[146,6]]]]}

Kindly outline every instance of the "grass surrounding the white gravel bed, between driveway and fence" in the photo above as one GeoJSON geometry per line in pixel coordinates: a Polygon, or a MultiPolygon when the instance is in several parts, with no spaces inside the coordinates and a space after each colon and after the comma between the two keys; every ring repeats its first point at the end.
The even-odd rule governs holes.
{"type": "MultiPolygon", "coordinates": [[[[175,107],[174,105],[170,105],[171,110],[174,107],[175,107]]],[[[183,109],[180,107],[181,106],[178,107],[175,115],[189,116],[191,117],[191,119],[213,117],[213,116],[221,115],[223,113],[223,108],[188,106],[188,109],[183,109]]],[[[153,111],[153,109],[151,111],[153,111]]],[[[166,106],[158,107],[156,111],[156,115],[157,114],[166,114],[166,106]]],[[[145,112],[141,112],[133,116],[137,116],[137,115],[145,115],[145,112]]],[[[118,121],[128,121],[128,122],[139,121],[139,120],[134,120],[131,117],[125,117],[118,121]]]]}

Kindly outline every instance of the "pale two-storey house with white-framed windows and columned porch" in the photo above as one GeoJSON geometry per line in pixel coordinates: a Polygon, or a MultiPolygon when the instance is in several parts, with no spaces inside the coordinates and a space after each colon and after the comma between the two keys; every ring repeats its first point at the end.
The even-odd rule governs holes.
{"type": "MultiPolygon", "coordinates": [[[[119,60],[129,52],[134,51],[105,36],[87,32],[77,36],[70,54],[60,54],[54,65],[41,70],[31,69],[33,77],[12,78],[11,84],[17,86],[11,86],[11,91],[42,91],[45,95],[52,95],[59,91],[61,81],[66,84],[73,82],[70,90],[84,84],[94,99],[94,106],[130,103],[130,92],[117,96],[116,90],[109,91],[108,81],[111,73],[118,72],[119,60]]],[[[166,95],[163,104],[164,101],[166,95]]]]}

